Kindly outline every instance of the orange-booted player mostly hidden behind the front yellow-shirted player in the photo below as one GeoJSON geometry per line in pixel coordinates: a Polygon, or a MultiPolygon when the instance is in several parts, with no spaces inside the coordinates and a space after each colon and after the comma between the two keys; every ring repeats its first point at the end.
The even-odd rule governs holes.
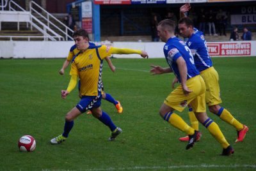
{"type": "MultiPolygon", "coordinates": [[[[89,41],[89,45],[95,45],[94,43],[89,41]]],[[[72,61],[73,57],[79,53],[80,50],[77,49],[76,45],[73,45],[68,53],[68,57],[67,59],[64,61],[63,66],[61,68],[61,70],[59,71],[60,75],[63,75],[65,73],[65,69],[68,67],[68,64],[70,64],[70,62],[72,61]]],[[[111,71],[115,72],[116,68],[115,66],[112,64],[111,59],[109,57],[106,57],[105,60],[108,62],[109,68],[111,69],[111,71]]],[[[78,89],[79,89],[79,97],[81,98],[81,94],[80,94],[80,84],[78,84],[78,89]]],[[[113,105],[115,105],[116,110],[118,112],[118,114],[122,114],[123,112],[123,107],[120,103],[120,101],[115,100],[115,98],[113,98],[113,96],[111,96],[111,94],[109,93],[105,93],[104,89],[103,89],[103,84],[102,84],[102,98],[104,100],[109,101],[110,103],[113,103],[113,105]]],[[[87,114],[92,114],[92,112],[90,110],[88,110],[87,114]]]]}

